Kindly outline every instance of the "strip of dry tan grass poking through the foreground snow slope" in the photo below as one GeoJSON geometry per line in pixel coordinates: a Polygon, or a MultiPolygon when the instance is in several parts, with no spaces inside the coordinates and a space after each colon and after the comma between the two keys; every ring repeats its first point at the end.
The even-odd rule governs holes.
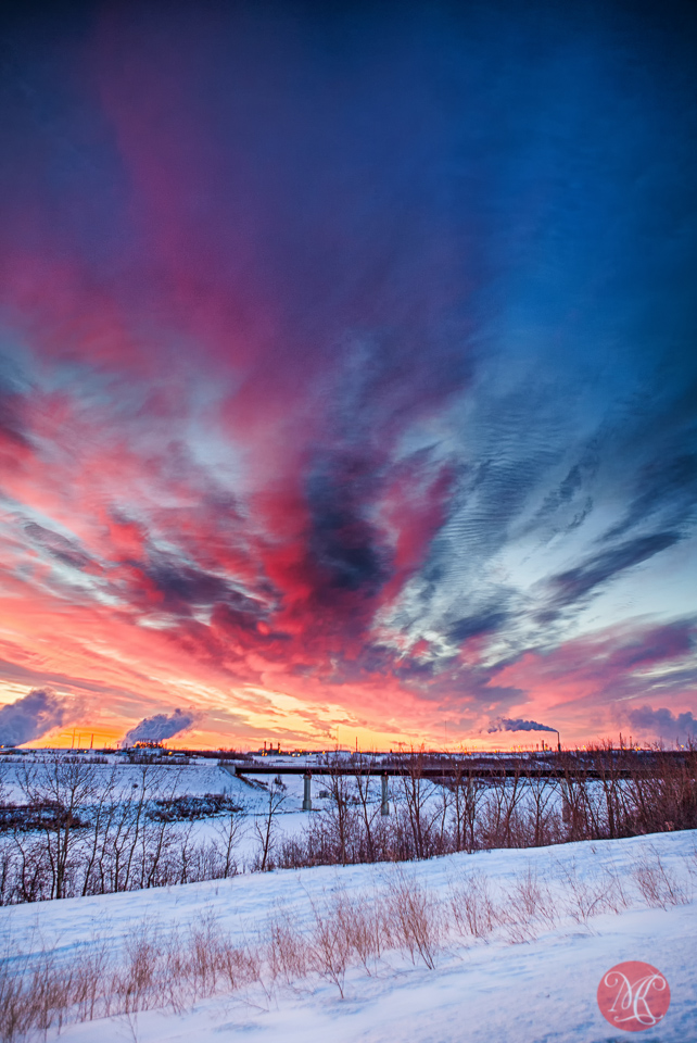
{"type": "MultiPolygon", "coordinates": [[[[69,962],[35,933],[24,951],[8,950],[0,958],[0,1039],[30,1040],[67,1022],[110,1016],[134,1023],[141,1010],[181,1013],[215,995],[268,1007],[277,989],[308,988],[313,979],[330,982],[343,997],[352,969],[393,972],[388,954],[433,969],[462,941],[530,942],[565,918],[588,927],[594,916],[630,904],[611,867],[583,876],[573,863],[550,868],[541,878],[529,867],[499,887],[482,874],[464,875],[443,902],[397,866],[372,892],[307,895],[304,921],[278,909],[251,940],[230,937],[212,910],[189,927],[143,927],[121,948],[94,938],[69,962]]],[[[692,894],[650,845],[633,879],[651,907],[680,905],[692,894]]]]}

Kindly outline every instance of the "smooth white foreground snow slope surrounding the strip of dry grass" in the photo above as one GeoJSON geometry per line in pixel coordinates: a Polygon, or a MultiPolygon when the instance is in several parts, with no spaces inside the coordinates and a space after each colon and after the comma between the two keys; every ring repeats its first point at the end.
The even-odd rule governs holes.
{"type": "MultiPolygon", "coordinates": [[[[367,973],[348,967],[344,998],[317,973],[281,984],[255,983],[235,993],[223,990],[183,1013],[144,1010],[64,1026],[65,1043],[140,1043],[244,1039],[249,1043],[608,1043],[626,1039],[600,1015],[596,990],[613,965],[643,960],[668,980],[671,1006],[664,1020],[642,1036],[649,1043],[697,1041],[697,888],[695,832],[631,840],[585,842],[553,849],[451,855],[402,868],[392,865],[315,868],[243,875],[230,880],[172,889],[72,899],[0,909],[3,945],[75,953],[109,940],[119,951],[149,929],[176,925],[186,935],[204,921],[236,944],[263,947],[269,918],[286,917],[297,932],[312,930],[313,912],[338,895],[368,908],[398,879],[420,883],[440,903],[443,938],[435,967],[388,946],[367,973]],[[648,882],[663,888],[666,907],[651,907],[637,866],[652,867],[648,882]],[[660,870],[658,867],[662,867],[660,870]],[[473,938],[455,929],[452,899],[458,887],[485,877],[494,904],[532,877],[548,888],[549,908],[527,921],[520,938],[505,918],[473,938]],[[400,876],[402,874],[402,876],[400,876]],[[623,897],[621,894],[623,893],[623,897]],[[593,905],[593,896],[598,901],[593,905]],[[673,904],[676,902],[677,904],[673,904]],[[605,905],[606,912],[597,913],[605,905]],[[614,906],[618,912],[610,912],[614,906]],[[40,940],[40,942],[39,942],[40,940]]],[[[648,870],[647,870],[648,871],[648,870]]],[[[660,892],[660,887],[659,887],[660,892]]],[[[658,895],[660,900],[660,893],[658,895]]],[[[510,903],[508,903],[510,905],[510,903]]],[[[510,909],[509,909],[510,912],[510,909]]],[[[515,913],[515,910],[512,910],[515,913]]],[[[523,918],[524,919],[524,918],[523,918]]],[[[56,1036],[50,1030],[49,1039],[56,1036]]]]}

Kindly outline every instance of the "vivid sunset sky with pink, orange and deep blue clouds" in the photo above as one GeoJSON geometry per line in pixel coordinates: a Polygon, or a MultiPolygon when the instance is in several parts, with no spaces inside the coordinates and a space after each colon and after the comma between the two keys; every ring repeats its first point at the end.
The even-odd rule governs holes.
{"type": "Polygon", "coordinates": [[[0,743],[695,738],[694,8],[4,17],[0,743]]]}

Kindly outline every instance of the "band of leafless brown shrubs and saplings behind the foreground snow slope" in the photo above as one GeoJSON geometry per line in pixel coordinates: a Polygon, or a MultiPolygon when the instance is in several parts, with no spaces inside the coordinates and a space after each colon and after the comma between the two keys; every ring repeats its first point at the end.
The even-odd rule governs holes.
{"type": "MultiPolygon", "coordinates": [[[[238,871],[241,817],[229,816],[213,838],[197,841],[161,812],[193,806],[199,799],[177,795],[176,769],[140,759],[138,781],[128,787],[115,767],[102,771],[106,766],[83,757],[17,763],[26,803],[12,806],[0,835],[0,904],[162,887],[238,871]],[[42,809],[38,817],[37,808],[42,809]]],[[[453,757],[439,762],[442,778],[428,778],[432,759],[422,750],[398,761],[403,775],[392,786],[390,816],[379,813],[380,780],[371,777],[370,762],[354,764],[358,775],[353,780],[343,774],[343,763],[329,762],[325,809],[308,817],[300,837],[283,842],[276,829],[282,789],[276,781],[270,789],[258,783],[269,806],[255,821],[259,843],[252,868],[405,862],[460,850],[528,847],[697,826],[695,749],[638,755],[621,742],[619,747],[605,743],[582,755],[560,754],[557,778],[547,777],[548,765],[541,766],[535,755],[519,758],[512,769],[510,761],[494,764],[486,779],[476,778],[461,758],[453,757]]],[[[218,794],[213,803],[220,801],[225,803],[218,794]]]]}

